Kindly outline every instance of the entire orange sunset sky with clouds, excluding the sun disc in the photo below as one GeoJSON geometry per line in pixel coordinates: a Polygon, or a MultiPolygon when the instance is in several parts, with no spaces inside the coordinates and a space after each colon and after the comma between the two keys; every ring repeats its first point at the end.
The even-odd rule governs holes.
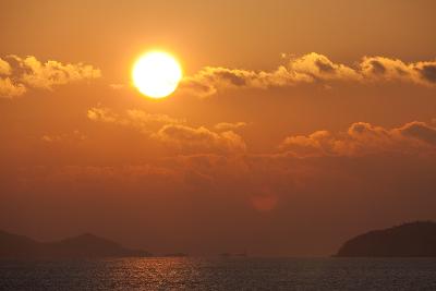
{"type": "Polygon", "coordinates": [[[0,229],[330,255],[436,219],[433,0],[0,0],[0,229]],[[177,90],[142,95],[159,50],[177,90]]]}

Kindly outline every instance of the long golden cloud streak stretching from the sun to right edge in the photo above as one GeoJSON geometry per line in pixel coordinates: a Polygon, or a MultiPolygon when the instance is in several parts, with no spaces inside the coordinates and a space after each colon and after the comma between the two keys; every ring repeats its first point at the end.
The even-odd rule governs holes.
{"type": "Polygon", "coordinates": [[[307,83],[407,82],[436,85],[436,61],[405,63],[385,57],[364,57],[354,68],[335,63],[324,54],[311,52],[291,58],[272,71],[206,66],[181,83],[181,89],[208,97],[229,88],[287,87],[307,83]]]}

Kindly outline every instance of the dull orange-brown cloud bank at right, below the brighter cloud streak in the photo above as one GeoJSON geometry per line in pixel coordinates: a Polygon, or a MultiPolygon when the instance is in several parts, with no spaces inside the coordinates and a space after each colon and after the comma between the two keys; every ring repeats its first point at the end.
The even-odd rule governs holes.
{"type": "Polygon", "coordinates": [[[316,131],[310,135],[288,136],[280,149],[300,157],[364,156],[385,151],[435,153],[436,128],[417,121],[395,129],[355,122],[347,132],[337,134],[316,131]]]}

